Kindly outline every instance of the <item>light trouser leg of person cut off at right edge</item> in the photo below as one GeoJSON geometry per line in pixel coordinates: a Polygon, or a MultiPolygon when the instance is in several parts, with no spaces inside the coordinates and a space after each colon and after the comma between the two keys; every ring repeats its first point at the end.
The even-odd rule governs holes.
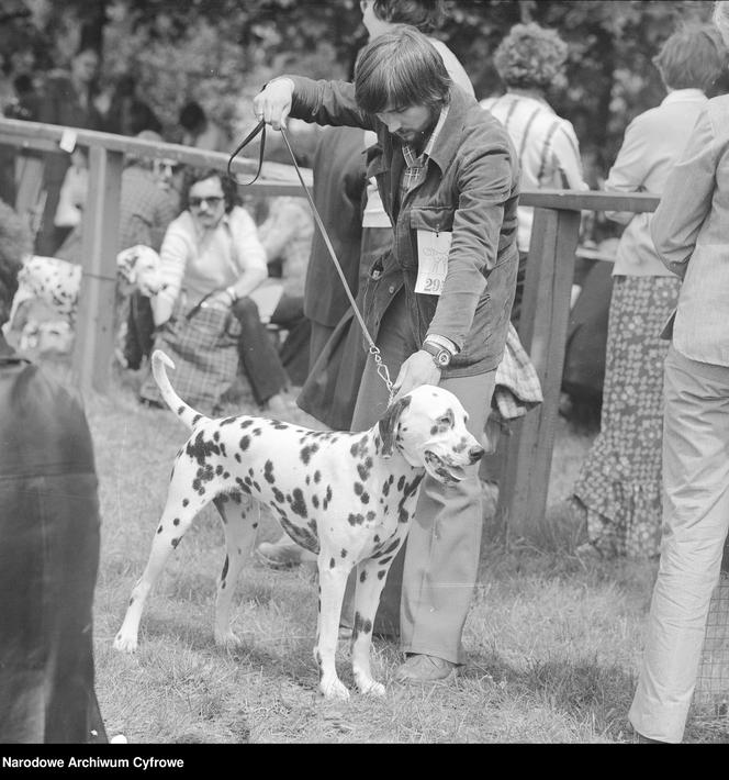
{"type": "Polygon", "coordinates": [[[628,716],[642,736],[680,743],[729,526],[729,368],[671,347],[664,394],[661,561],[628,716]]]}

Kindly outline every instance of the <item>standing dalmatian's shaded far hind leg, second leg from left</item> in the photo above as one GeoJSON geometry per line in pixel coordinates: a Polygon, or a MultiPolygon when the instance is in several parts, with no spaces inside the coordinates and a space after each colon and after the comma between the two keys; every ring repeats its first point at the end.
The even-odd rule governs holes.
{"type": "Polygon", "coordinates": [[[256,541],[260,508],[257,501],[242,493],[223,493],[213,499],[213,503],[223,521],[226,544],[215,600],[215,643],[231,647],[240,644],[231,628],[231,606],[238,575],[256,541]]]}

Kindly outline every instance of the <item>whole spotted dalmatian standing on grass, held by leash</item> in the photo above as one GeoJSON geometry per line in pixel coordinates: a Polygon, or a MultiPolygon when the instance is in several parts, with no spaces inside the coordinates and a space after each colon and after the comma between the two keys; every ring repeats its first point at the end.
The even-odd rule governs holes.
{"type": "Polygon", "coordinates": [[[335,654],[345,586],[357,569],[351,661],[361,693],[384,694],[370,671],[372,624],[384,579],[413,519],[425,473],[461,481],[484,454],[466,427],[468,415],[447,390],[423,386],[391,404],[369,431],[312,431],[257,416],[211,420],[191,409],[170,385],[155,350],[152,367],[162,398],[192,431],[175,459],[167,502],[147,566],[132,590],[117,650],[137,648],[145,601],[170,553],[211,501],[223,521],[226,557],[217,584],[214,636],[237,645],[229,626],[236,579],[249,557],[259,504],[294,542],[317,555],[319,601],[314,658],[319,691],[348,699],[335,654]]]}

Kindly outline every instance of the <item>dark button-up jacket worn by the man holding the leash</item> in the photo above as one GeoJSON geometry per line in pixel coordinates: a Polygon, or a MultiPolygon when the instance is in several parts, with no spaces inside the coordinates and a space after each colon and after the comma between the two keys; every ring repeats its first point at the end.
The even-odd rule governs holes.
{"type": "Polygon", "coordinates": [[[292,116],[378,134],[382,154],[370,164],[368,176],[377,178],[394,242],[390,256],[374,263],[365,292],[363,316],[372,337],[404,286],[417,342],[433,333],[459,348],[445,377],[495,369],[506,341],[518,263],[519,171],[502,124],[459,87],[451,87],[448,115],[427,158],[424,180],[397,208],[405,165],[402,144],[377,116],[358,108],[354,85],[288,78],[294,83],[292,116]],[[440,296],[415,292],[418,230],[452,234],[440,296]]]}

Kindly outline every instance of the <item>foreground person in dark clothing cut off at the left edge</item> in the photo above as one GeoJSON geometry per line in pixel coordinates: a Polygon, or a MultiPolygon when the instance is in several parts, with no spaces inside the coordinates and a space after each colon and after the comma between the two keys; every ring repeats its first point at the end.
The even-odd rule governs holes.
{"type": "MultiPolygon", "coordinates": [[[[30,233],[0,203],[0,324],[30,233]]],[[[105,743],[94,691],[99,499],[76,390],[0,334],[0,743],[105,743]]]]}

